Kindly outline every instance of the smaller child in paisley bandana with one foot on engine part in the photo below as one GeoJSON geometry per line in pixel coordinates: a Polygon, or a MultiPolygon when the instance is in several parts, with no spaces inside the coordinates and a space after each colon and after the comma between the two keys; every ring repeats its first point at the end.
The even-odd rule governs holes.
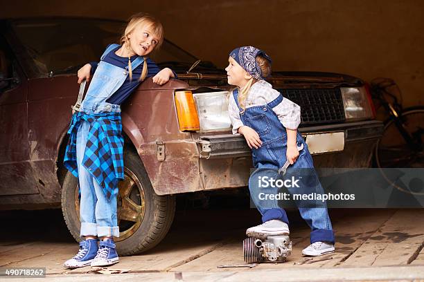
{"type": "MultiPolygon", "coordinates": [[[[247,236],[266,238],[289,234],[288,218],[277,200],[264,200],[264,194],[278,194],[274,185],[260,187],[260,179],[281,178],[279,169],[290,162],[284,179],[299,176],[299,188],[288,188],[291,194],[324,193],[308,145],[297,132],[300,124],[300,107],[272,88],[264,77],[271,73],[271,59],[265,52],[252,46],[236,48],[229,56],[228,83],[236,85],[229,102],[229,115],[233,133],[244,135],[251,148],[256,170],[249,178],[251,199],[255,203],[263,224],[247,229],[247,236]],[[303,147],[303,149],[302,149],[303,147]],[[299,151],[300,149],[300,151],[299,151]]],[[[262,182],[263,183],[263,182],[262,182]]],[[[325,203],[297,203],[299,212],[311,227],[310,243],[302,254],[319,256],[334,249],[334,234],[325,203]]]]}

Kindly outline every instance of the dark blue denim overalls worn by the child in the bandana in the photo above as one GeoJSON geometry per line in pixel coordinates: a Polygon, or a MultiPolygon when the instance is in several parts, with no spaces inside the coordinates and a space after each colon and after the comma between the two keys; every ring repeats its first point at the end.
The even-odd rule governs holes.
{"type": "MultiPolygon", "coordinates": [[[[279,207],[278,200],[260,200],[260,193],[278,194],[277,187],[260,187],[258,179],[267,176],[269,178],[279,179],[281,176],[278,169],[283,167],[287,157],[287,133],[285,127],[281,124],[278,116],[272,110],[275,106],[283,101],[283,96],[279,95],[272,102],[263,106],[251,106],[242,109],[238,103],[238,90],[233,91],[234,100],[240,110],[240,120],[245,126],[254,129],[262,141],[261,147],[252,148],[252,159],[256,170],[251,173],[249,178],[249,191],[251,199],[256,208],[262,214],[263,223],[272,219],[279,219],[288,223],[288,217],[285,210],[279,207]]],[[[291,176],[299,175],[299,171],[308,171],[307,175],[302,174],[299,180],[299,188],[288,188],[290,194],[324,194],[318,176],[315,172],[312,156],[308,150],[308,145],[302,136],[297,133],[297,146],[303,144],[303,149],[299,151],[299,158],[294,164],[290,165],[285,174],[285,179],[291,176]]],[[[306,223],[311,227],[310,234],[311,243],[318,241],[327,241],[334,243],[334,234],[331,226],[330,218],[325,203],[321,205],[299,205],[299,212],[306,223]],[[317,207],[318,206],[318,207],[317,207]]]]}

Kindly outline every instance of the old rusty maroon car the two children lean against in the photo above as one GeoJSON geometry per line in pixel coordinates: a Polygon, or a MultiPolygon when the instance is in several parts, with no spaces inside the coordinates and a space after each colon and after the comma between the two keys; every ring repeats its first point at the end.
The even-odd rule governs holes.
{"type": "MultiPolygon", "coordinates": [[[[123,22],[38,18],[1,21],[0,208],[62,207],[79,239],[78,180],[63,166],[76,71],[98,61],[123,22]]],[[[231,134],[225,72],[169,41],[153,55],[178,73],[148,79],[123,106],[125,180],[119,185],[120,254],[148,250],[166,235],[175,195],[245,187],[250,151],[231,134]]],[[[275,72],[274,88],[301,106],[299,131],[317,167],[369,167],[382,133],[361,79],[334,73],[275,72]]]]}

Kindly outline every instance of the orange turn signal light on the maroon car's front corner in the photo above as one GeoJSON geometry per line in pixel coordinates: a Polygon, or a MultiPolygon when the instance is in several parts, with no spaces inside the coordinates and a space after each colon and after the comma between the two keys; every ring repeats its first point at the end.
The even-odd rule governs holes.
{"type": "Polygon", "coordinates": [[[199,116],[191,91],[176,91],[175,107],[177,108],[180,131],[200,130],[199,116]]]}

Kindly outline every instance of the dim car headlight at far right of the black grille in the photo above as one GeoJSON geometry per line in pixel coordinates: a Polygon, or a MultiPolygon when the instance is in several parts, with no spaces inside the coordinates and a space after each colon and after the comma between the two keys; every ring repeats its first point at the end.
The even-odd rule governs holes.
{"type": "Polygon", "coordinates": [[[340,91],[342,91],[346,121],[374,118],[371,98],[365,87],[343,87],[340,91]]]}

